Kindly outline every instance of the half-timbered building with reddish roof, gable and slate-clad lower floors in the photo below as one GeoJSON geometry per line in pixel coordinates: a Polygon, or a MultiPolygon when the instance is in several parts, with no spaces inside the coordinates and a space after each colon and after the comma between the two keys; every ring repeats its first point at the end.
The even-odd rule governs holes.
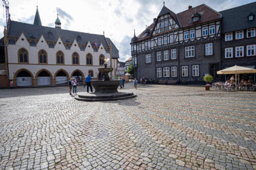
{"type": "Polygon", "coordinates": [[[202,82],[204,75],[214,75],[221,68],[220,25],[221,14],[205,4],[178,14],[163,6],[131,40],[135,77],[202,82]]]}

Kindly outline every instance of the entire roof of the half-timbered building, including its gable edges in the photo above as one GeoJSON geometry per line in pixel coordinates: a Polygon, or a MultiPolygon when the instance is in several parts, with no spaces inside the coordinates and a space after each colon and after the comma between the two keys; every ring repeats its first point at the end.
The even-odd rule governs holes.
{"type": "MultiPolygon", "coordinates": [[[[191,9],[188,9],[188,10],[180,12],[178,14],[175,14],[173,11],[171,11],[167,7],[163,6],[162,10],[160,11],[160,13],[158,15],[158,19],[161,15],[164,15],[164,14],[167,14],[167,13],[169,13],[171,16],[173,16],[175,22],[181,28],[186,28],[186,27],[189,27],[189,26],[198,25],[198,24],[203,23],[203,22],[208,22],[208,21],[211,21],[211,20],[221,18],[221,14],[219,12],[215,11],[214,9],[211,9],[210,7],[208,7],[205,4],[199,5],[197,7],[191,8],[191,9]],[[200,13],[202,15],[202,17],[199,21],[192,22],[191,17],[193,16],[193,14],[195,14],[195,8],[196,8],[197,13],[200,13]]],[[[143,33],[146,31],[146,30],[144,30],[138,36],[138,39],[136,41],[140,41],[140,40],[143,40],[143,39],[146,39],[146,38],[150,37],[152,32],[153,32],[153,29],[155,28],[155,25],[156,25],[158,19],[156,19],[150,25],[150,27],[148,27],[150,29],[150,33],[147,36],[144,37],[143,33]]],[[[134,42],[136,42],[136,41],[134,41],[134,42]]]]}

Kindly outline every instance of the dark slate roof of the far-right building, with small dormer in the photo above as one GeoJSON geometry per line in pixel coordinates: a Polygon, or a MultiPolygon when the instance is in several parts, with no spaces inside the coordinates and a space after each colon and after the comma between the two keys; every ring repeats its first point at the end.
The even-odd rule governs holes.
{"type": "Polygon", "coordinates": [[[256,2],[236,8],[220,11],[222,19],[222,33],[244,30],[256,26],[256,2]],[[254,14],[253,20],[248,20],[248,15],[254,14]]]}

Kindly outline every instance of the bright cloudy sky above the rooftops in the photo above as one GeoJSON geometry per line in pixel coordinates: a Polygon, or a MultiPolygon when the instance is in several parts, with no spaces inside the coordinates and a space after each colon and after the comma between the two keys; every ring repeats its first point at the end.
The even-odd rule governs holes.
{"type": "MultiPolygon", "coordinates": [[[[204,3],[222,11],[251,2],[255,0],[165,0],[165,6],[179,13],[189,5],[195,7],[204,3]]],[[[38,5],[43,26],[54,27],[58,11],[62,29],[101,35],[104,31],[105,36],[111,38],[117,46],[120,61],[131,56],[133,30],[136,35],[140,34],[146,25],[151,25],[163,7],[162,0],[9,0],[9,3],[12,20],[33,24],[38,5]]],[[[3,7],[2,11],[5,11],[3,7]]],[[[0,18],[1,37],[6,25],[3,15],[0,18]]]]}

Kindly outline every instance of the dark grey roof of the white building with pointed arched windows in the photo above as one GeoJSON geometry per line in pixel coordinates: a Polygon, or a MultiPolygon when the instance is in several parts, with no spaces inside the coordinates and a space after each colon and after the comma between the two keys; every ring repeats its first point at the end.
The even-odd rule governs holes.
{"type": "Polygon", "coordinates": [[[67,40],[73,42],[76,38],[78,44],[87,44],[88,41],[90,41],[91,44],[93,44],[94,42],[96,42],[97,44],[102,43],[104,47],[109,47],[108,43],[111,42],[112,58],[119,58],[119,52],[115,44],[110,40],[110,38],[106,38],[106,40],[108,41],[107,43],[103,35],[31,25],[29,23],[10,20],[7,28],[8,36],[19,37],[22,34],[22,31],[27,38],[34,37],[36,39],[39,39],[41,35],[43,35],[45,40],[47,41],[57,41],[60,37],[62,42],[66,42],[67,40]],[[78,35],[80,36],[80,38],[77,38],[78,35]]]}

